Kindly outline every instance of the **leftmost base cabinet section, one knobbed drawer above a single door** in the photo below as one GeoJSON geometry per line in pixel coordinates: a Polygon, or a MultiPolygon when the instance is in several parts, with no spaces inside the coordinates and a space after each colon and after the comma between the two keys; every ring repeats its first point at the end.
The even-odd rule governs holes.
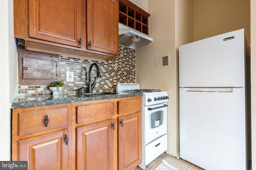
{"type": "Polygon", "coordinates": [[[12,109],[12,160],[28,170],[72,169],[72,103],[12,109]]]}

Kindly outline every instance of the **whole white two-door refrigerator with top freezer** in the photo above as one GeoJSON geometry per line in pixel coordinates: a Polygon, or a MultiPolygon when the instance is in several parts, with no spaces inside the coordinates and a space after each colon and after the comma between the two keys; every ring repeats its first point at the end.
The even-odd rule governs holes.
{"type": "Polygon", "coordinates": [[[249,93],[244,29],[179,47],[180,158],[247,170],[249,93]]]}

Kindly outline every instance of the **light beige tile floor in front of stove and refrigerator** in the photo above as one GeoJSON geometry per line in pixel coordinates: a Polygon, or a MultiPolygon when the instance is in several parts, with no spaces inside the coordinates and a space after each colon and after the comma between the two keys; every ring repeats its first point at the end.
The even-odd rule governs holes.
{"type": "MultiPolygon", "coordinates": [[[[175,158],[174,156],[170,156],[166,153],[161,154],[153,160],[148,166],[146,166],[146,170],[154,170],[158,165],[162,163],[162,160],[165,160],[175,168],[178,168],[178,170],[204,170],[194,164],[191,164],[190,162],[187,162],[186,160],[182,160],[175,158]]],[[[142,170],[139,166],[137,166],[134,170],[142,170]]]]}

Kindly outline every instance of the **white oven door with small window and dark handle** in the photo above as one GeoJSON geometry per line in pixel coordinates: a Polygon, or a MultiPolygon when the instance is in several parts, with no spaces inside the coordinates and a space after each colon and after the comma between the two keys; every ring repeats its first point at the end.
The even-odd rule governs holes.
{"type": "Polygon", "coordinates": [[[167,103],[144,106],[145,145],[167,134],[167,103]]]}

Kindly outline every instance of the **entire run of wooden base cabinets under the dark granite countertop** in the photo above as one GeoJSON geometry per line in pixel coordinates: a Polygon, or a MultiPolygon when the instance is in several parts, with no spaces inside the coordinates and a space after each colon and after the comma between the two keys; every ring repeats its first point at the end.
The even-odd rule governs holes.
{"type": "Polygon", "coordinates": [[[12,160],[28,170],[132,170],[141,129],[140,96],[13,109],[12,160]]]}

